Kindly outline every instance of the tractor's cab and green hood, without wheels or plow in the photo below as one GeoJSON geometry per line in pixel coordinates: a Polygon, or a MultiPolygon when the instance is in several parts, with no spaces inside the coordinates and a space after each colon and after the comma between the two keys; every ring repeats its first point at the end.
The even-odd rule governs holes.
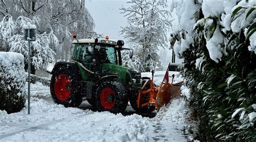
{"type": "Polygon", "coordinates": [[[132,58],[133,50],[123,46],[123,40],[114,41],[108,37],[75,39],[72,41],[71,61],[79,64],[83,80],[119,76],[120,82],[129,84],[134,77],[131,77],[130,72],[129,77],[126,75],[129,67],[122,66],[121,51],[129,50],[132,58]]]}

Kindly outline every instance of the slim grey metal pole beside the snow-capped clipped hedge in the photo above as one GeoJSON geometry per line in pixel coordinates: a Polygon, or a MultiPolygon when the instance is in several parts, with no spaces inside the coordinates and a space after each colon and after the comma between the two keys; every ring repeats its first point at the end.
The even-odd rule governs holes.
{"type": "MultiPolygon", "coordinates": [[[[28,30],[28,37],[30,38],[30,30],[28,30]]],[[[28,114],[30,114],[30,40],[29,40],[29,60],[28,60],[28,114]]]]}

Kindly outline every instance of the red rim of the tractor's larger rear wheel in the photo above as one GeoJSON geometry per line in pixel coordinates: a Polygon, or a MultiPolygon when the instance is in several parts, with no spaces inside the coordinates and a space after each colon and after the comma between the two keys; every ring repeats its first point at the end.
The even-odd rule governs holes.
{"type": "Polygon", "coordinates": [[[71,82],[69,77],[60,74],[55,80],[54,91],[59,100],[67,100],[71,94],[71,82]]]}

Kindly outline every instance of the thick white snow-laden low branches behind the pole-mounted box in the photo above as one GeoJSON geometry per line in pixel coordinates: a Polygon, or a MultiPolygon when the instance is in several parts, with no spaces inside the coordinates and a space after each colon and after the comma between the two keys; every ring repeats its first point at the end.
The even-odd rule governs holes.
{"type": "MultiPolygon", "coordinates": [[[[9,51],[22,53],[25,57],[25,63],[28,62],[28,41],[24,39],[23,30],[30,24],[35,28],[37,19],[30,19],[24,16],[19,16],[16,21],[12,16],[5,16],[0,23],[1,37],[6,44],[9,45],[9,51]]],[[[37,33],[36,41],[31,42],[32,60],[31,63],[35,69],[45,69],[49,63],[52,63],[55,58],[55,52],[50,48],[50,45],[58,46],[58,39],[50,33],[37,33]]]]}

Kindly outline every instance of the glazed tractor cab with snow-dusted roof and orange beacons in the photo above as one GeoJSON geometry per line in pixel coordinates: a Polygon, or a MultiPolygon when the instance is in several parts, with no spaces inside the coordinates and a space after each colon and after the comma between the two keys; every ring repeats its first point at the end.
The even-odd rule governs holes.
{"type": "Polygon", "coordinates": [[[75,39],[72,42],[71,59],[82,62],[85,65],[93,62],[122,65],[121,50],[133,50],[122,48],[123,40],[113,41],[98,38],[75,39]]]}

